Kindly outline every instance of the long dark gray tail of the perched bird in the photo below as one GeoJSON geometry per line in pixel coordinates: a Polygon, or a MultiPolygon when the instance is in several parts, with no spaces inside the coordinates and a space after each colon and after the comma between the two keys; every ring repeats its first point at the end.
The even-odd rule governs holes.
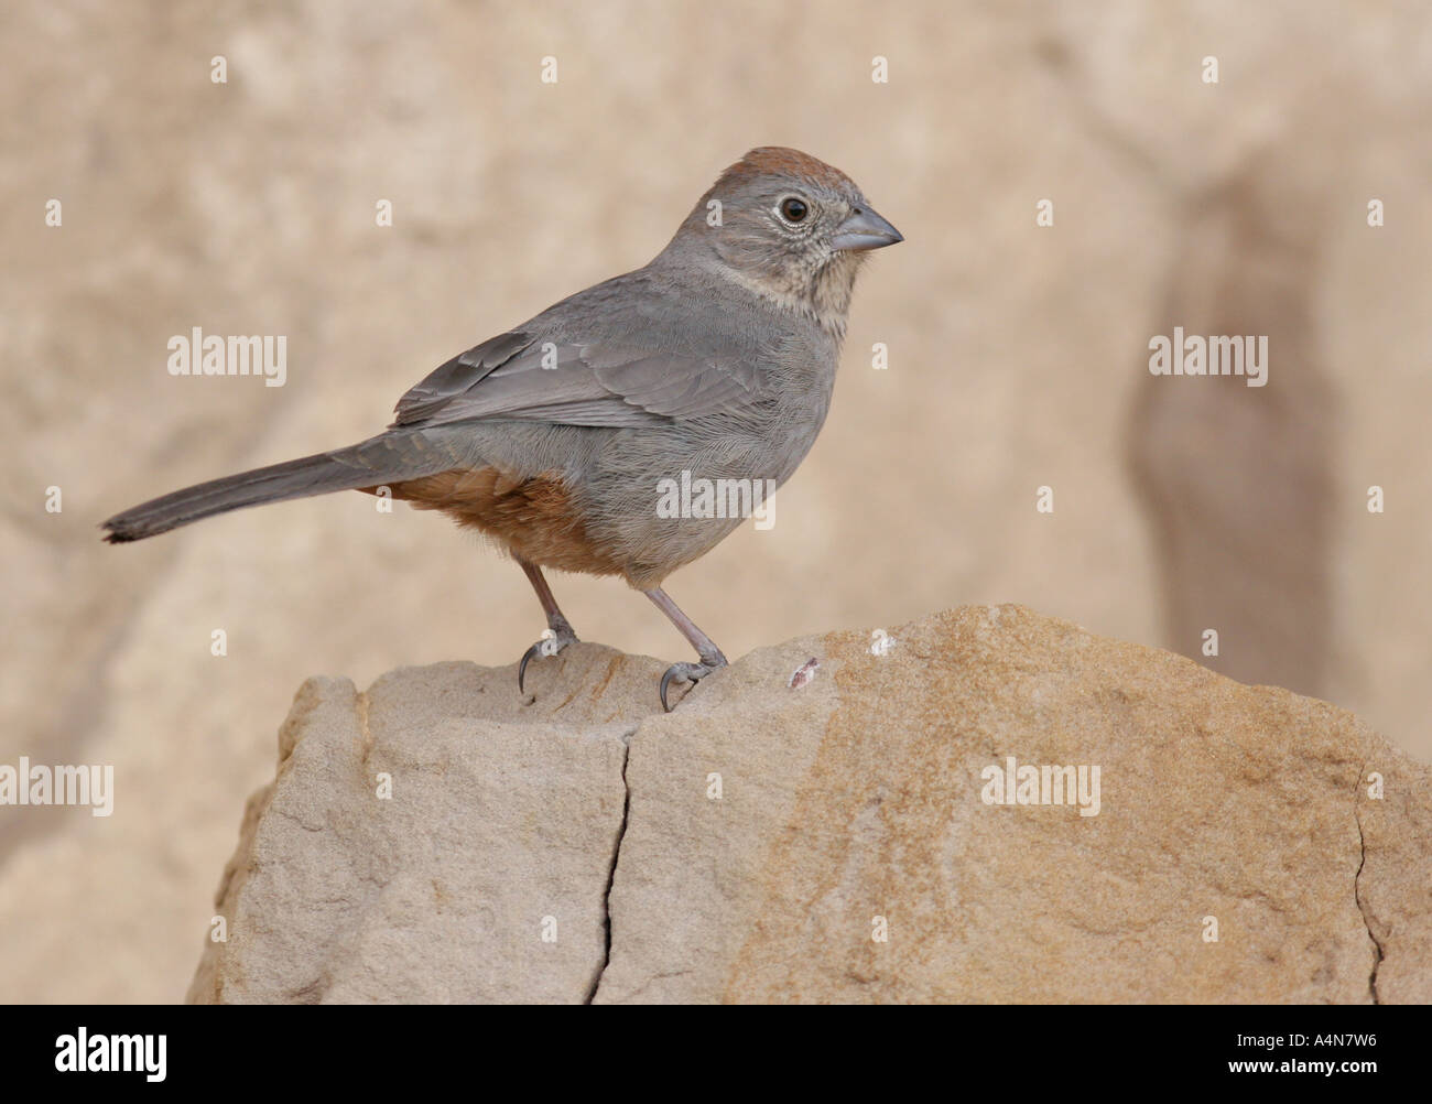
{"type": "Polygon", "coordinates": [[[263,503],[311,498],[332,491],[379,487],[457,467],[451,454],[434,448],[421,432],[378,437],[266,468],[209,480],[132,507],[100,524],[112,544],[143,540],[215,514],[263,503]]]}

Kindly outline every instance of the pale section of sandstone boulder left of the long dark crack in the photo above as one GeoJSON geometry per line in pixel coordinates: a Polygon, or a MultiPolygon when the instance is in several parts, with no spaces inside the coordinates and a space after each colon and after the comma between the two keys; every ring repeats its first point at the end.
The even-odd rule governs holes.
{"type": "Polygon", "coordinates": [[[586,999],[634,690],[657,667],[607,687],[623,663],[583,649],[564,664],[571,693],[526,709],[511,669],[470,663],[397,670],[362,694],[304,683],[223,875],[228,942],[189,999],[586,999]]]}

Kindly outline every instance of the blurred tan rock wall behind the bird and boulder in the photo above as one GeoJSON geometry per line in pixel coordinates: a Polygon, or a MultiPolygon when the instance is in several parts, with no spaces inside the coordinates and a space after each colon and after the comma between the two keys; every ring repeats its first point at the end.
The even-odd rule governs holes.
{"type": "MultiPolygon", "coordinates": [[[[1432,757],[1425,6],[195,9],[0,11],[0,763],[119,790],[109,819],[0,810],[0,999],[182,997],[302,677],[510,663],[541,627],[516,567],[362,495],[122,548],[96,523],[374,432],[644,263],[753,145],[845,169],[908,241],[776,528],[670,583],[727,654],[961,603],[1184,652],[1219,627],[1220,670],[1432,757]],[[288,385],[170,378],[195,325],[286,335],[288,385]],[[1153,381],[1173,325],[1267,334],[1273,382],[1153,381]]],[[[686,657],[621,584],[554,586],[587,639],[686,657]]]]}

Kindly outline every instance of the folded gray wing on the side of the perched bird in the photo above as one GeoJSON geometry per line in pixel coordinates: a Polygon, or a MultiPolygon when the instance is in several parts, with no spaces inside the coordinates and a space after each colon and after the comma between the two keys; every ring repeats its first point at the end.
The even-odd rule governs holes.
{"type": "Polygon", "coordinates": [[[563,425],[656,425],[750,405],[755,358],[501,334],[454,357],[397,405],[400,425],[520,418],[563,425]]]}

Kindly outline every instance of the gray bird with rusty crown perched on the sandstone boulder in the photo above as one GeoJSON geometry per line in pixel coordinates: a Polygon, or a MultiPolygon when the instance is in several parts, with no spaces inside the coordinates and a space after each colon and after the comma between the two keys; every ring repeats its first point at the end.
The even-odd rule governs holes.
{"type": "Polygon", "coordinates": [[[440,365],[381,434],[162,495],[103,521],[105,538],[334,491],[390,494],[478,530],[526,573],[547,631],[518,664],[518,693],[533,659],[577,640],[544,568],[620,576],[696,650],[662,676],[670,712],[672,684],[726,656],[663,583],[742,517],[662,510],[659,488],[792,475],[831,408],[856,272],[901,241],[839,169],[752,149],[647,265],[440,365]]]}

